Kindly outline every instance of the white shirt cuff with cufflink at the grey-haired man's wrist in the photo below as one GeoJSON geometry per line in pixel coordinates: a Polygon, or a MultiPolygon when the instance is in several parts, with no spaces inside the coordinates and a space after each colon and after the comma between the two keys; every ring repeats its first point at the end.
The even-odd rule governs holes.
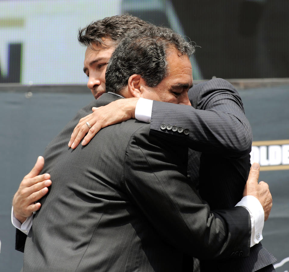
{"type": "Polygon", "coordinates": [[[262,239],[262,231],[264,227],[264,210],[257,198],[253,195],[244,196],[240,202],[236,204],[236,206],[244,207],[248,210],[251,217],[251,244],[258,244],[262,239]]]}

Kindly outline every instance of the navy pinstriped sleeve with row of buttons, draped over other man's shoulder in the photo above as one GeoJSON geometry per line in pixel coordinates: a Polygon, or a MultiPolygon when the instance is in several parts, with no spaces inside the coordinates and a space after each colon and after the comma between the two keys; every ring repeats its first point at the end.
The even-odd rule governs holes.
{"type": "Polygon", "coordinates": [[[151,131],[175,135],[176,141],[191,149],[241,157],[250,153],[251,126],[245,116],[237,90],[227,81],[217,78],[195,85],[189,90],[191,106],[154,101],[151,131]],[[190,133],[161,130],[161,124],[188,128],[190,133]]]}

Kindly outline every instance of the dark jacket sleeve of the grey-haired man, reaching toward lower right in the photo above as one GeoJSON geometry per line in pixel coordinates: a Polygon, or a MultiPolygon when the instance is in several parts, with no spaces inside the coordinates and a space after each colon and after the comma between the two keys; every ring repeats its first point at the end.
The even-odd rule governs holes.
{"type": "MultiPolygon", "coordinates": [[[[146,129],[146,130],[145,130],[146,129]]],[[[199,258],[250,250],[250,216],[234,207],[212,212],[187,177],[184,146],[137,130],[126,150],[124,183],[131,201],[169,244],[199,258]]],[[[241,257],[241,256],[240,256],[241,257]]]]}

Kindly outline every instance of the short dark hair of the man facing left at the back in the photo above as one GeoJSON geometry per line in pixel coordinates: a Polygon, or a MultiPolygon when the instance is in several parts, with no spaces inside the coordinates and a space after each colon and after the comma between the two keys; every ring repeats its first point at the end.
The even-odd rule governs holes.
{"type": "Polygon", "coordinates": [[[79,29],[78,41],[91,49],[92,45],[101,48],[111,46],[111,43],[107,44],[103,39],[111,39],[113,45],[117,46],[128,32],[145,24],[145,21],[129,14],[105,17],[79,29]]]}

